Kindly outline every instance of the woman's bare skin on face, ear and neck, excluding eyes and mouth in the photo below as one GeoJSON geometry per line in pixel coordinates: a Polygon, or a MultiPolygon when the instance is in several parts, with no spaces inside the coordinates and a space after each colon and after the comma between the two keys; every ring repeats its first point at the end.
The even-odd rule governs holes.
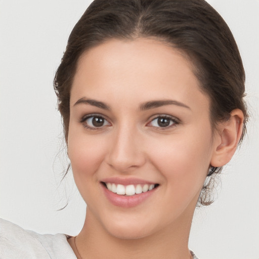
{"type": "MultiPolygon", "coordinates": [[[[112,39],[80,57],[67,144],[75,183],[87,203],[76,237],[82,258],[191,258],[191,221],[209,166],[231,159],[242,132],[242,112],[234,110],[212,133],[209,105],[190,61],[158,40],[112,39]],[[82,98],[110,109],[76,104],[82,98]],[[140,109],[155,100],[188,108],[140,109]],[[104,125],[82,121],[91,114],[102,116],[104,125]],[[159,127],[156,118],[164,115],[171,125],[159,127]],[[107,177],[159,186],[141,204],[124,208],[105,197],[100,181],[107,177]]],[[[79,257],[74,240],[69,243],[79,257]]]]}

